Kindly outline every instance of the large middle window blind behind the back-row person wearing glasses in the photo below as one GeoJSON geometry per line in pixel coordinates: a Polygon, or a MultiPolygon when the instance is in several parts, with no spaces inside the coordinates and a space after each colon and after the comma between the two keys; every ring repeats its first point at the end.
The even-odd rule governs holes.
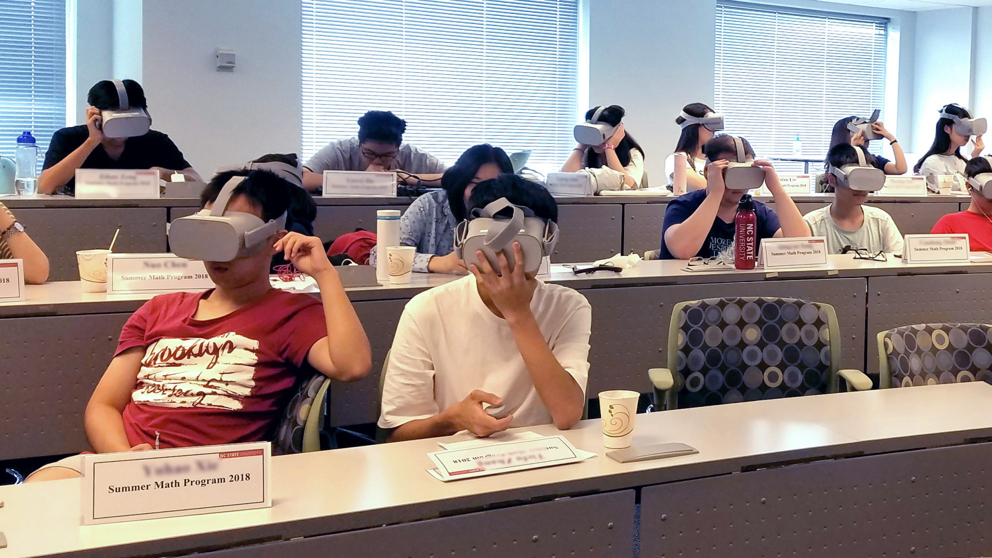
{"type": "Polygon", "coordinates": [[[574,146],[577,0],[303,0],[303,156],[353,137],[367,110],[451,164],[468,147],[574,146]]]}

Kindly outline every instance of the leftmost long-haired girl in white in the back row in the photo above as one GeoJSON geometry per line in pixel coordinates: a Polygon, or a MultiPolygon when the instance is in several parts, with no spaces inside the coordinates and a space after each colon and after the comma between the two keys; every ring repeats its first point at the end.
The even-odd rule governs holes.
{"type": "MultiPolygon", "coordinates": [[[[586,111],[586,121],[592,119],[597,108],[586,111]]],[[[561,172],[575,173],[588,169],[597,175],[611,176],[616,183],[612,190],[637,190],[647,186],[641,184],[644,178],[644,149],[624,129],[622,120],[625,114],[623,107],[616,104],[604,108],[596,121],[591,123],[616,126],[613,136],[601,145],[576,145],[561,166],[561,172]]]]}

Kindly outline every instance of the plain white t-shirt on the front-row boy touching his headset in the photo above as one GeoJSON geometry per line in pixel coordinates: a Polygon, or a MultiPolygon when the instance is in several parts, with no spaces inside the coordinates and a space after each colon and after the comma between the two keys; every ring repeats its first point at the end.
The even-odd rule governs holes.
{"type": "MultiPolygon", "coordinates": [[[[592,307],[577,291],[538,281],[531,310],[548,346],[582,392],[592,307]]],[[[554,422],[506,321],[482,302],[475,276],[415,296],[403,311],[382,390],[380,428],[426,419],[474,389],[503,398],[510,426],[554,422]]]]}

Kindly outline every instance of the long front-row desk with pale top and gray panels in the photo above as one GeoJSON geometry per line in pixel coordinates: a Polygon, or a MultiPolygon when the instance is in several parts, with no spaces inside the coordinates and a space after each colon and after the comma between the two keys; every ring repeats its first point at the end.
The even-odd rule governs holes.
{"type": "Polygon", "coordinates": [[[78,480],[0,487],[0,556],[631,556],[636,490],[643,556],[987,556],[990,397],[979,382],[638,415],[636,445],[699,453],[626,465],[584,421],[563,434],[597,457],[448,484],[426,473],[437,440],[277,457],[271,508],[130,523],[79,526],[78,480]]]}

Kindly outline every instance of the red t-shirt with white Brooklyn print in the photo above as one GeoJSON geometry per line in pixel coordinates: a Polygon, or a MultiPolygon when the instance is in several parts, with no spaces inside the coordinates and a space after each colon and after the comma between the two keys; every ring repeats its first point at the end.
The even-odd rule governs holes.
{"type": "Polygon", "coordinates": [[[313,344],[327,337],[320,301],[273,289],[213,320],[193,320],[203,293],[161,295],[124,325],[116,354],[141,347],[124,409],[132,445],[257,442],[288,403],[313,344]]]}

